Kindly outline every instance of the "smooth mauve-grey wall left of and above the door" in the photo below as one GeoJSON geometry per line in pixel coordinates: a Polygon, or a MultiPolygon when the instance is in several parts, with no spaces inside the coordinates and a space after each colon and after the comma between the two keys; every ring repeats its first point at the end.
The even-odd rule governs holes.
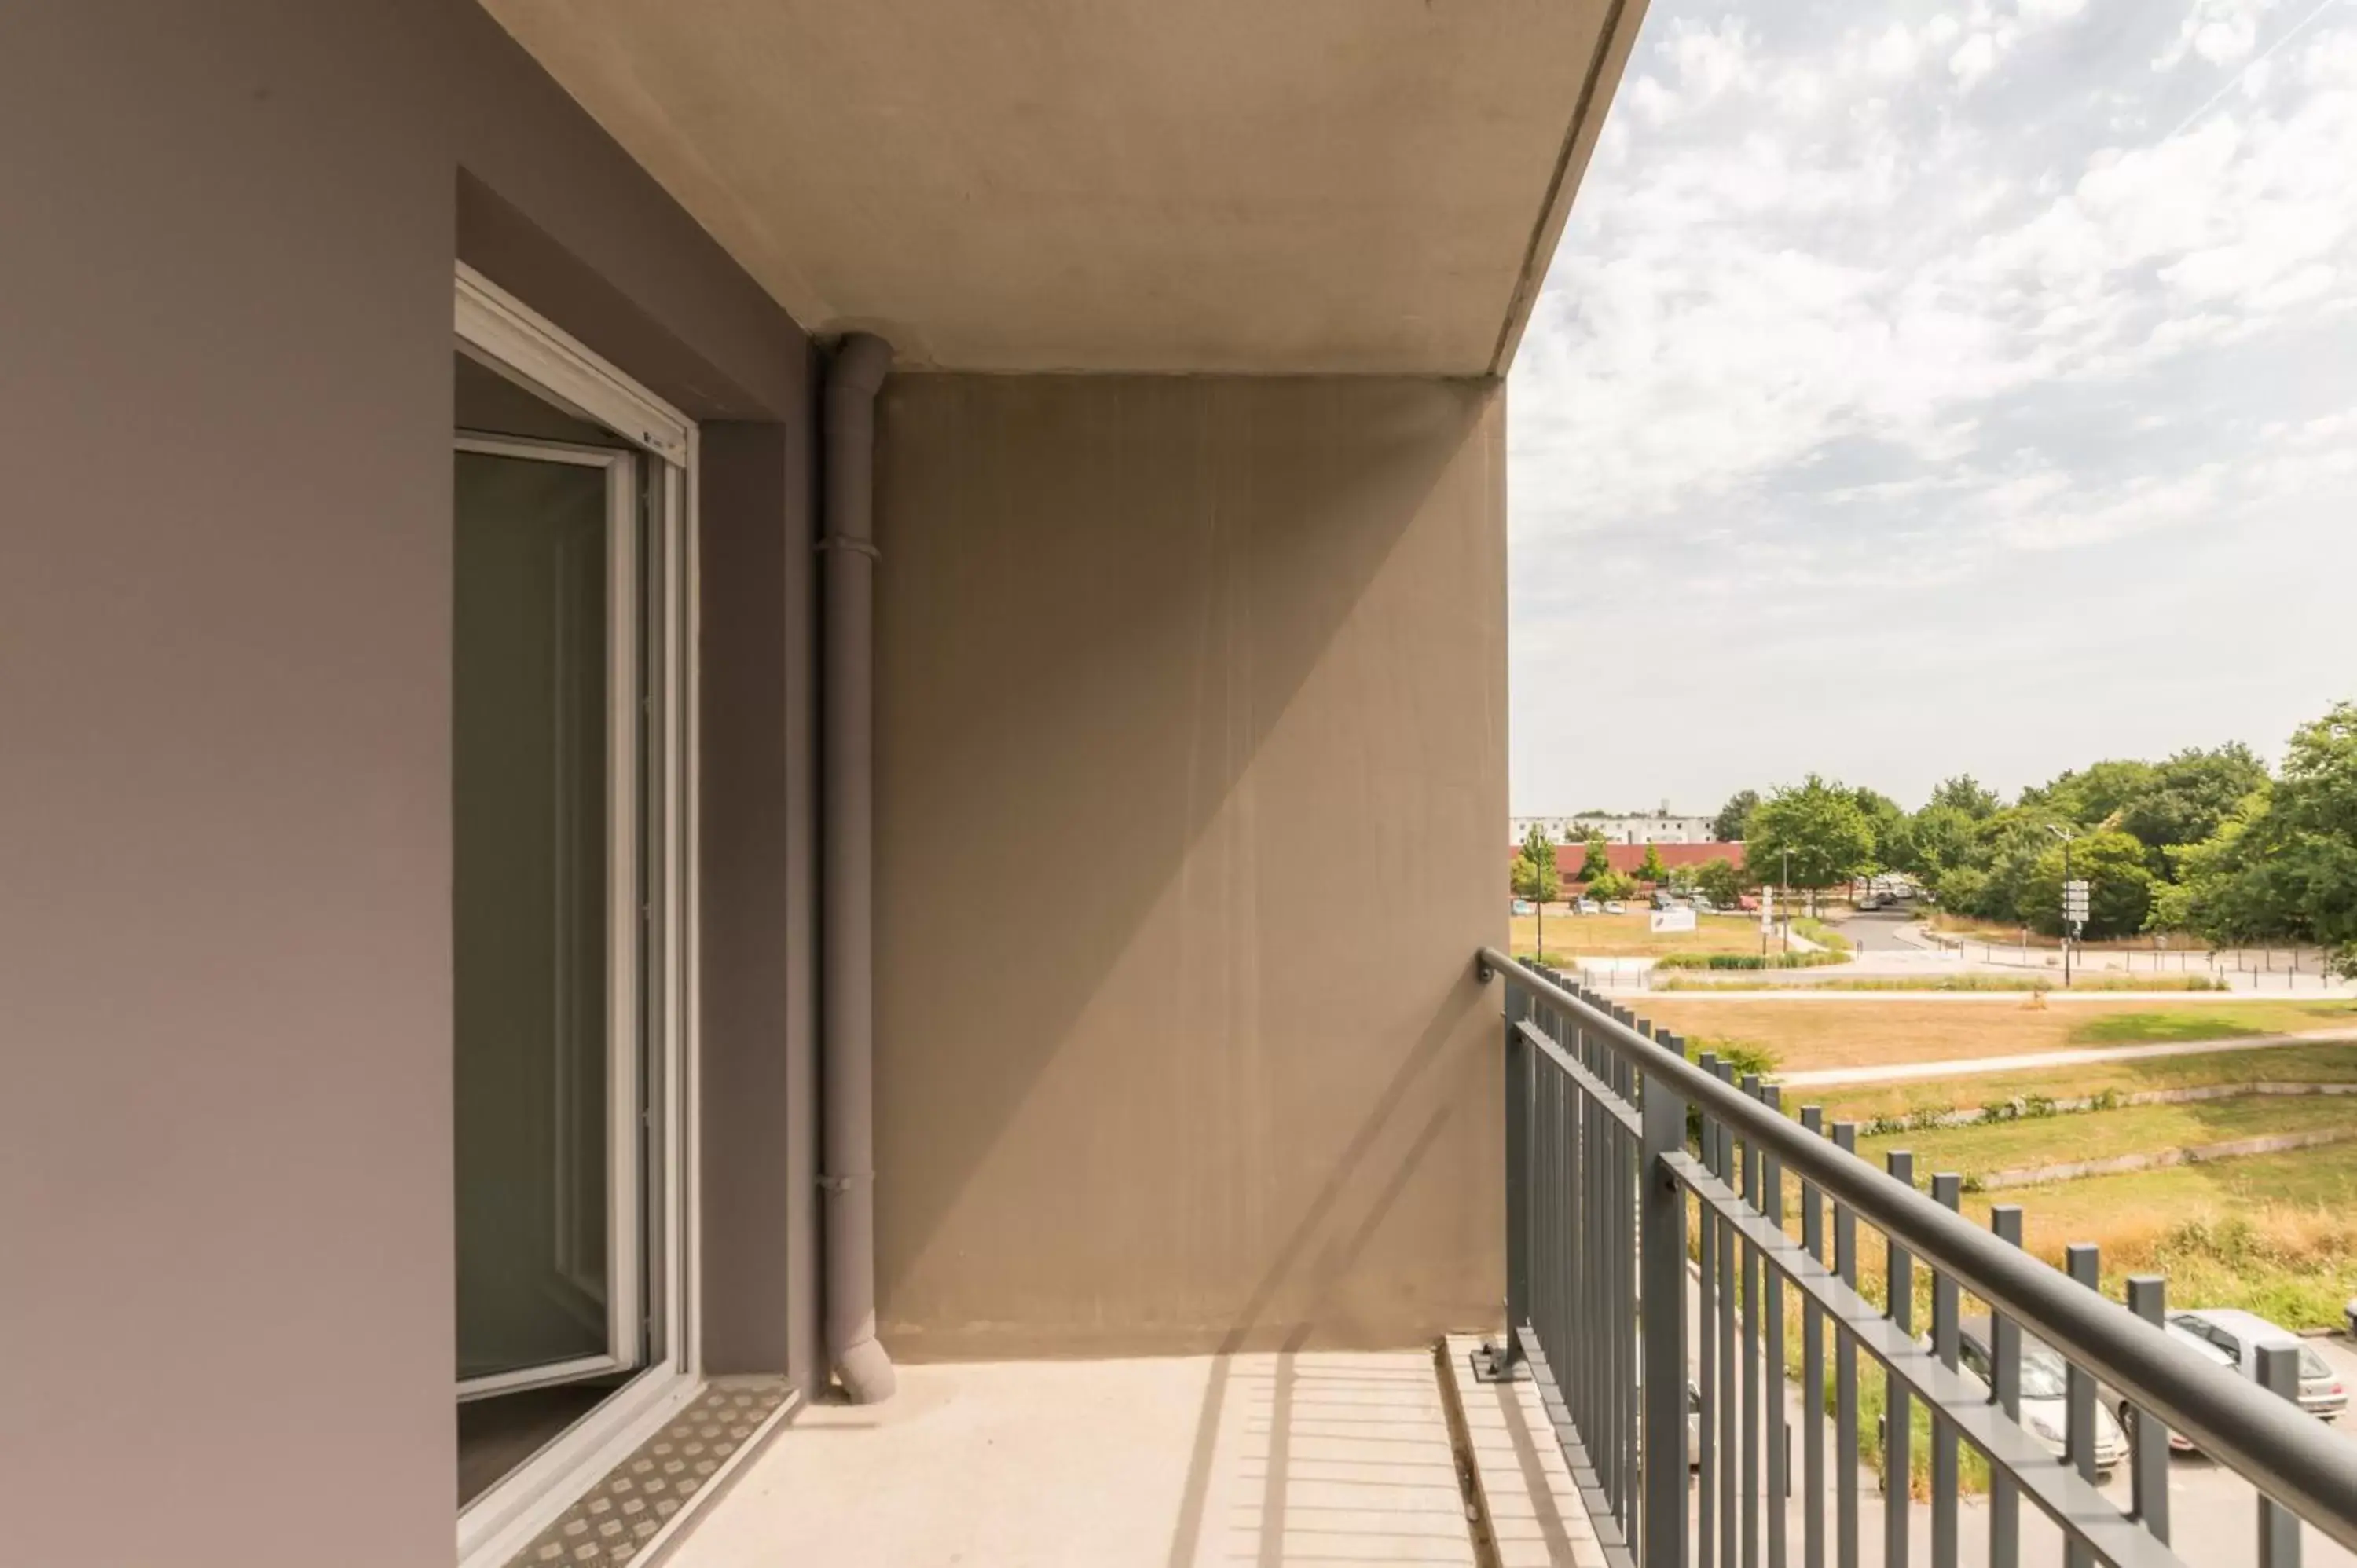
{"type": "Polygon", "coordinates": [[[450,259],[806,344],[471,0],[21,7],[0,144],[0,1556],[448,1563],[450,259]]]}

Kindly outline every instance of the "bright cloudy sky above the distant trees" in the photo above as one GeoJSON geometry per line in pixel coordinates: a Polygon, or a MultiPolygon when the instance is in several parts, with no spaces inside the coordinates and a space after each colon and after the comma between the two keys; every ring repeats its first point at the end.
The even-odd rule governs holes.
{"type": "Polygon", "coordinates": [[[2357,0],[1652,0],[1508,387],[1513,809],[2357,696],[2357,0]]]}

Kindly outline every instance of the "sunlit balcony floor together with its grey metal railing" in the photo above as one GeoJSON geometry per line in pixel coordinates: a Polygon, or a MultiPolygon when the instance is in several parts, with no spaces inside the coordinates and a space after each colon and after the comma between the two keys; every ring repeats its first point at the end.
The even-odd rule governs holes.
{"type": "Polygon", "coordinates": [[[2357,1443],[2298,1410],[2291,1353],[2225,1372],[2157,1327],[2161,1280],[2107,1302],[2091,1247],[2058,1273],[2015,1250],[2018,1210],[1978,1231],[1956,1177],[1923,1195],[1904,1158],[1864,1165],[1853,1127],[1789,1120],[1772,1085],[1480,962],[1504,1002],[1511,1332],[905,1368],[891,1403],[801,1410],[674,1561],[2352,1561],[2357,1443]],[[1869,1254],[1895,1311],[1860,1290],[1869,1254]],[[1994,1309],[1994,1394],[1959,1370],[1966,1304],[1994,1309]],[[2062,1431],[2022,1410],[2046,1346],[2067,1356],[2062,1431]],[[2199,1455],[2173,1460],[2173,1434],[2199,1455]],[[1928,1488],[1890,1507],[1879,1476],[1916,1445],[1928,1488]],[[1985,1493],[1961,1485],[1975,1457],[1985,1493]]]}

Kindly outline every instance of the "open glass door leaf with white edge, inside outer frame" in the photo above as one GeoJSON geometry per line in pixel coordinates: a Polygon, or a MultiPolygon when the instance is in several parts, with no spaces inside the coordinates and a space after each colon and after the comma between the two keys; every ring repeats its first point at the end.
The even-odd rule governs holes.
{"type": "Polygon", "coordinates": [[[629,604],[627,455],[469,439],[455,465],[457,1377],[469,1396],[596,1377],[636,1356],[636,733],[618,615],[629,604]]]}

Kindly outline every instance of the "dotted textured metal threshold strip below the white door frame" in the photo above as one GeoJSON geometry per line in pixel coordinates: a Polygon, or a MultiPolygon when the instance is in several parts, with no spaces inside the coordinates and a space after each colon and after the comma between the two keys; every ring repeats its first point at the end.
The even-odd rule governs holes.
{"type": "Polygon", "coordinates": [[[646,1568],[719,1500],[794,1391],[783,1377],[717,1377],[509,1559],[509,1568],[646,1568]]]}

